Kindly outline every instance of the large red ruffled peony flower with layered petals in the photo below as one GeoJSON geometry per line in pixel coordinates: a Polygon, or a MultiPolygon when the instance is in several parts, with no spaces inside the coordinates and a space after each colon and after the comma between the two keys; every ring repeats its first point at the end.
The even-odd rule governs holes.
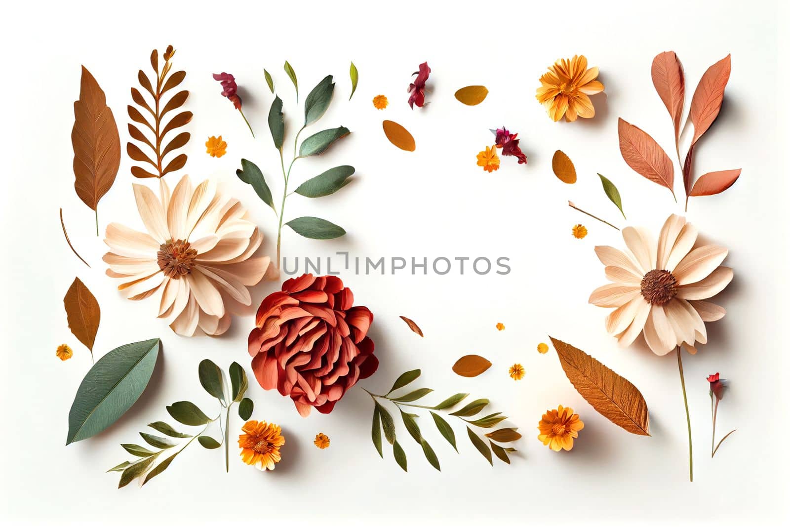
{"type": "Polygon", "coordinates": [[[329,413],[360,378],[378,368],[367,330],[373,314],[353,306],[338,277],[303,274],[267,296],[248,339],[252,370],[264,390],[291,397],[303,417],[329,413]]]}

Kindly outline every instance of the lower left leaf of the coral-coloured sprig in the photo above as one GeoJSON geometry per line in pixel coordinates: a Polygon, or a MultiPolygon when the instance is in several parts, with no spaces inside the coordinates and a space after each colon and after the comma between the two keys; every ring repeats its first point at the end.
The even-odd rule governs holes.
{"type": "Polygon", "coordinates": [[[674,196],[675,190],[672,186],[675,183],[675,168],[667,152],[664,152],[653,137],[623,119],[618,119],[617,131],[620,137],[620,153],[628,166],[653,183],[666,186],[674,196]]]}

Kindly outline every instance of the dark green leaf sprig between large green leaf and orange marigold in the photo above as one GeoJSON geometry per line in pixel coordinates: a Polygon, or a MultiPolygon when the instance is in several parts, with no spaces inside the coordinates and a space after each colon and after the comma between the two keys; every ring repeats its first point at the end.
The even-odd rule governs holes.
{"type": "Polygon", "coordinates": [[[200,383],[209,392],[212,397],[216,397],[220,403],[220,410],[216,417],[211,418],[205,414],[197,405],[190,401],[176,401],[170,406],[167,406],[167,413],[178,421],[188,427],[203,427],[197,434],[185,434],[175,430],[171,425],[164,421],[156,421],[149,423],[149,427],[160,434],[152,435],[146,432],[140,432],[140,436],[148,443],[148,446],[153,447],[151,450],[148,446],[141,446],[132,443],[124,443],[121,446],[126,452],[132,454],[137,459],[133,461],[123,461],[120,465],[116,465],[107,472],[121,472],[121,480],[118,487],[126,487],[137,478],[144,477],[142,484],[151,480],[152,477],[159,476],[168,466],[173,462],[176,456],[195,440],[206,449],[213,450],[225,445],[225,472],[228,472],[228,443],[229,443],[229,430],[231,420],[231,408],[236,403],[239,404],[239,417],[243,420],[248,420],[252,415],[253,402],[244,397],[246,390],[249,386],[247,382],[246,372],[239,363],[232,363],[228,370],[231,378],[230,393],[227,393],[227,385],[224,381],[224,372],[220,370],[215,363],[209,359],[203,359],[198,366],[198,378],[200,383]],[[224,411],[225,427],[223,432],[222,416],[224,411]],[[211,435],[206,434],[206,430],[212,423],[219,423],[220,426],[220,440],[217,441],[211,435]],[[179,439],[189,439],[186,442],[179,443],[179,439]],[[172,454],[171,454],[172,453],[172,454]],[[155,462],[160,457],[171,454],[164,461],[160,461],[159,465],[155,462]]]}

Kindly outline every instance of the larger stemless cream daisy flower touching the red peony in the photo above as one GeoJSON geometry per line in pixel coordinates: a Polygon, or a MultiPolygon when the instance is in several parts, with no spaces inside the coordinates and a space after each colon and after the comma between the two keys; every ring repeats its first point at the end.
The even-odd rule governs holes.
{"type": "Polygon", "coordinates": [[[249,306],[247,288],[269,268],[269,257],[253,256],[263,235],[241,203],[209,180],[193,187],[185,175],[171,194],[160,179],[161,199],[148,186],[133,187],[148,232],[107,225],[107,275],[123,280],[118,288],[128,299],[156,294],[158,316],[179,335],[224,333],[228,308],[249,306]]]}

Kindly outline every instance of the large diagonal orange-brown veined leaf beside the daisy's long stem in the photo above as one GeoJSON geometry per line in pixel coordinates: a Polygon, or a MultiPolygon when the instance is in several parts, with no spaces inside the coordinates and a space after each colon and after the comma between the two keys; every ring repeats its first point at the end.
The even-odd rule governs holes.
{"type": "Polygon", "coordinates": [[[650,435],[650,416],[637,387],[570,344],[551,342],[565,375],[596,412],[632,434],[650,435]]]}

